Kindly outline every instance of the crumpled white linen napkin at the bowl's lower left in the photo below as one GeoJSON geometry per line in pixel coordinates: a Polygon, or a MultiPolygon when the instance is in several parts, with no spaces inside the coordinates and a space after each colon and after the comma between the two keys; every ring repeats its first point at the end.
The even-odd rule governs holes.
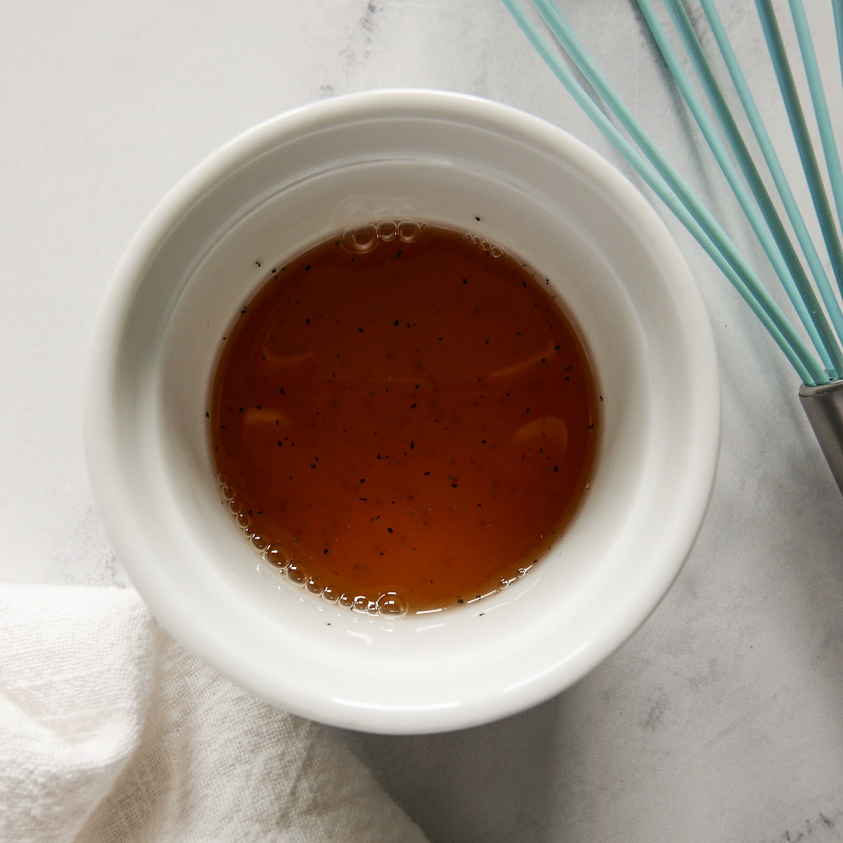
{"type": "Polygon", "coordinates": [[[3,843],[425,843],[314,723],[196,661],[132,589],[0,585],[3,843]]]}

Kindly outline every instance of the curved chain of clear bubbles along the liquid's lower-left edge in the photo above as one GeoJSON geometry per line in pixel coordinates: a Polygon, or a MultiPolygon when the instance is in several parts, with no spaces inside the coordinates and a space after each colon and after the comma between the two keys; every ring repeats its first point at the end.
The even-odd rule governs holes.
{"type": "Polygon", "coordinates": [[[305,561],[298,559],[287,547],[271,541],[255,531],[249,513],[244,512],[237,500],[237,490],[228,482],[225,475],[217,475],[223,502],[234,517],[234,523],[243,530],[250,545],[266,561],[270,570],[287,580],[293,588],[321,598],[326,603],[341,606],[364,615],[377,615],[381,618],[403,618],[408,613],[405,599],[394,591],[388,591],[372,598],[367,594],[341,591],[325,583],[314,572],[309,571],[305,561]]]}

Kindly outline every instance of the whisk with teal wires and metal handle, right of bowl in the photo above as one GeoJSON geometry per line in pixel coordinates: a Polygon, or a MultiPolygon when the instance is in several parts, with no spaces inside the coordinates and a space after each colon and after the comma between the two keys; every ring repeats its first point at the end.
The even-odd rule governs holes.
{"type": "MultiPolygon", "coordinates": [[[[803,409],[837,486],[843,493],[843,313],[840,298],[843,296],[843,246],[838,229],[838,225],[843,226],[843,172],[840,169],[829,108],[802,0],[788,0],[788,3],[808,80],[810,101],[819,130],[831,197],[826,190],[819,160],[813,148],[808,121],[797,94],[797,86],[771,0],[755,0],[755,8],[797,145],[804,178],[819,222],[822,246],[837,286],[836,290],[829,281],[817,245],[808,234],[808,226],[797,207],[713,0],[698,0],[698,5],[701,6],[711,35],[717,43],[734,92],[743,107],[761,158],[764,159],[768,178],[775,185],[781,207],[787,214],[790,232],[802,251],[807,270],[797,254],[791,233],[788,232],[776,209],[776,203],[767,190],[759,166],[749,152],[738,128],[738,122],[729,110],[727,98],[711,69],[685,6],[681,0],[663,0],[678,40],[694,69],[697,83],[714,115],[714,121],[698,97],[695,85],[685,73],[651,0],[636,0],[636,3],[685,104],[732,188],[776,277],[787,293],[808,341],[803,339],[800,331],[787,319],[749,261],[612,89],[577,40],[558,6],[553,0],[531,2],[544,20],[547,30],[553,35],[556,47],[550,46],[518,0],[503,0],[556,77],[642,180],[711,256],[792,363],[802,379],[799,397],[803,409]],[[578,81],[565,59],[576,65],[591,90],[587,90],[578,81]],[[616,123],[609,118],[605,110],[614,115],[616,123]],[[837,214],[836,223],[832,205],[837,214]]],[[[843,72],[843,0],[831,0],[831,3],[840,50],[840,67],[843,72]]]]}

